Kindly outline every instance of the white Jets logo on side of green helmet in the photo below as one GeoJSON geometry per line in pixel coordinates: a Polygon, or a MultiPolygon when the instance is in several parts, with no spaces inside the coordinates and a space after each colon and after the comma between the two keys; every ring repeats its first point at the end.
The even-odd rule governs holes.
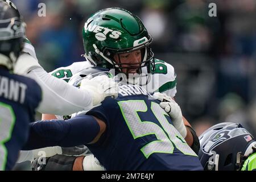
{"type": "Polygon", "coordinates": [[[84,29],[85,31],[96,33],[95,38],[100,41],[106,40],[107,36],[109,36],[112,39],[118,39],[119,36],[122,35],[122,33],[119,31],[112,30],[107,27],[101,27],[97,24],[94,24],[93,26],[89,24],[89,26],[87,27],[87,23],[85,23],[84,29]]]}

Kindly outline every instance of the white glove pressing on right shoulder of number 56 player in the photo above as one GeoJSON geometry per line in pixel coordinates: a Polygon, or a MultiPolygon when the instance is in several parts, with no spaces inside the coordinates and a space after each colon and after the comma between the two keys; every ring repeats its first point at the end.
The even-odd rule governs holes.
{"type": "Polygon", "coordinates": [[[153,97],[160,102],[160,106],[170,115],[174,127],[183,138],[187,135],[187,129],[184,125],[180,106],[169,96],[164,93],[156,92],[153,97]]]}

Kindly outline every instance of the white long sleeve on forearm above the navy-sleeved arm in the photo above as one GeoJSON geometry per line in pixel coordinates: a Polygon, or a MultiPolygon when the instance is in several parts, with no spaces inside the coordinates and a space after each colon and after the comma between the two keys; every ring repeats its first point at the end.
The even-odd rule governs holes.
{"type": "Polygon", "coordinates": [[[36,80],[42,88],[43,99],[38,107],[40,113],[68,115],[92,109],[88,91],[49,75],[42,67],[33,69],[27,76],[36,80]]]}

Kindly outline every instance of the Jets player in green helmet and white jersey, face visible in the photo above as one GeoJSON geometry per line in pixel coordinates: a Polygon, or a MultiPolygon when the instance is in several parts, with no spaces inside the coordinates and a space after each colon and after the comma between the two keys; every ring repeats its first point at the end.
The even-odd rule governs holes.
{"type": "MultiPolygon", "coordinates": [[[[152,37],[138,16],[119,8],[98,11],[86,21],[82,36],[86,61],[58,68],[51,72],[53,76],[68,81],[84,68],[109,68],[114,69],[123,82],[142,85],[150,93],[161,92],[175,97],[174,67],[154,58],[152,37]]],[[[172,118],[178,115],[172,114],[172,118]]],[[[42,119],[53,118],[53,115],[43,115],[42,119]]],[[[186,127],[181,127],[179,132],[187,135],[185,140],[198,152],[197,135],[184,117],[183,121],[186,127]]]]}

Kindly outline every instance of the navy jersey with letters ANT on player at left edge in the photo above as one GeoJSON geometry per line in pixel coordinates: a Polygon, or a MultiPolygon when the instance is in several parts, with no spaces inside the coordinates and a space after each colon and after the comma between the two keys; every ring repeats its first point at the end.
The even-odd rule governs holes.
{"type": "Polygon", "coordinates": [[[34,80],[0,69],[0,170],[14,167],[41,99],[34,80]]]}

